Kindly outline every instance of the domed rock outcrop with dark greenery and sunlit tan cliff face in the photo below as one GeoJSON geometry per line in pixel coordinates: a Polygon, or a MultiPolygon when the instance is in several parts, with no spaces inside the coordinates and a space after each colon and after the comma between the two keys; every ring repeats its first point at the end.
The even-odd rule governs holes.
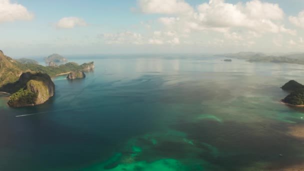
{"type": "Polygon", "coordinates": [[[55,85],[46,73],[22,73],[16,86],[22,88],[10,96],[10,107],[42,104],[55,92],[55,85]]]}

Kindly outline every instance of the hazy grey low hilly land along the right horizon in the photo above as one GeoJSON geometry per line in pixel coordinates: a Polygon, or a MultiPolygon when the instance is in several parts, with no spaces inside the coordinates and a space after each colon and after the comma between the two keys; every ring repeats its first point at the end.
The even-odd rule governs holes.
{"type": "Polygon", "coordinates": [[[268,54],[261,53],[261,52],[238,52],[238,53],[216,54],[215,56],[245,59],[248,62],[274,62],[274,63],[304,64],[304,53],[287,53],[287,54],[268,55],[268,54]]]}

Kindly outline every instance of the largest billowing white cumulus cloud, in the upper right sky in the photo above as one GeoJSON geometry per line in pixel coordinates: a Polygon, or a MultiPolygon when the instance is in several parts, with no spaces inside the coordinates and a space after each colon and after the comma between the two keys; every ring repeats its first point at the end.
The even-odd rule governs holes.
{"type": "Polygon", "coordinates": [[[225,3],[224,0],[209,0],[197,7],[195,16],[201,27],[240,27],[257,32],[286,32],[292,30],[284,28],[280,23],[284,12],[278,4],[251,0],[243,3],[225,3]]]}

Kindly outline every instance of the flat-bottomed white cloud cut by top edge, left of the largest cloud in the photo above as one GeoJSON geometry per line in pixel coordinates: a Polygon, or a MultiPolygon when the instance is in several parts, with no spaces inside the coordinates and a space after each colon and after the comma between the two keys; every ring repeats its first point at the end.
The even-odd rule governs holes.
{"type": "Polygon", "coordinates": [[[144,13],[179,14],[193,10],[184,0],[138,0],[138,4],[144,13]]]}

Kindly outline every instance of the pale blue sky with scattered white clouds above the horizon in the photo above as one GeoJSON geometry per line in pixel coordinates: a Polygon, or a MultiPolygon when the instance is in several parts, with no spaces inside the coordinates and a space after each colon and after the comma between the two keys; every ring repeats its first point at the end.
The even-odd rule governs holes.
{"type": "Polygon", "coordinates": [[[301,52],[304,0],[0,0],[11,57],[301,52]]]}

